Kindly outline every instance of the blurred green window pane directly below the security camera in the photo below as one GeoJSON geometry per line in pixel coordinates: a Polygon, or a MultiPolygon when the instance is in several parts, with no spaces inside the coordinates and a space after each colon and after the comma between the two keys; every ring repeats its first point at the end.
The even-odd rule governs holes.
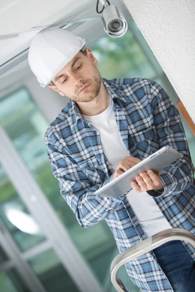
{"type": "Polygon", "coordinates": [[[91,48],[98,70],[106,79],[143,77],[152,79],[155,71],[130,30],[123,37],[104,36],[91,48]]]}

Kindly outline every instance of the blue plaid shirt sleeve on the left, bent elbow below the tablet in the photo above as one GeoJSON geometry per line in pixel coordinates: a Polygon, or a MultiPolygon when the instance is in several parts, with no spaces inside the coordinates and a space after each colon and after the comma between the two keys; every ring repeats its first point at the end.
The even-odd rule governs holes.
{"type": "Polygon", "coordinates": [[[60,193],[82,227],[90,227],[108,218],[121,206],[124,195],[114,199],[94,194],[101,186],[109,183],[113,175],[104,183],[93,185],[74,159],[64,151],[62,153],[57,143],[52,142],[46,135],[45,143],[52,172],[59,181],[60,193]]]}

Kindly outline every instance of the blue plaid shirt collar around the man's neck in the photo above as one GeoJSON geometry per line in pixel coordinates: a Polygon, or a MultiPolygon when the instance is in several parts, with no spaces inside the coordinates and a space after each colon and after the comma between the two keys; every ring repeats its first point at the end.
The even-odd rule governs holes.
{"type": "MultiPolygon", "coordinates": [[[[122,96],[122,94],[120,93],[120,91],[118,89],[115,88],[115,86],[113,85],[113,83],[111,83],[111,81],[105,79],[105,78],[101,78],[107,91],[109,92],[110,96],[112,99],[117,98],[120,99],[124,102],[126,102],[125,98],[122,96]]],[[[71,128],[73,128],[78,120],[84,120],[83,115],[81,114],[81,112],[78,110],[78,107],[76,105],[76,103],[73,100],[70,100],[71,103],[71,109],[72,109],[72,123],[71,123],[71,128]]],[[[88,122],[87,122],[88,123],[88,122]]]]}

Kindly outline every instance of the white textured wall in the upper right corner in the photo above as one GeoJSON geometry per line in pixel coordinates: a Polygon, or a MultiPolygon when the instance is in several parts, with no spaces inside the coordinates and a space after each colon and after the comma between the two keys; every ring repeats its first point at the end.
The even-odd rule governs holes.
{"type": "Polygon", "coordinates": [[[195,0],[123,0],[195,122],[195,0]]]}

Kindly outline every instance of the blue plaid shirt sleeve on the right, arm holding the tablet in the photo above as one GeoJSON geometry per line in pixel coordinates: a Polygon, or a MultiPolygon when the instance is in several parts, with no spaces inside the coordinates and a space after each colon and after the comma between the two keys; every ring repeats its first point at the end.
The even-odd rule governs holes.
{"type": "Polygon", "coordinates": [[[151,105],[159,148],[169,145],[182,153],[176,162],[160,171],[160,181],[164,190],[147,192],[154,197],[167,197],[179,194],[193,184],[195,168],[191,161],[178,110],[163,88],[153,80],[150,80],[150,82],[151,105]]]}

